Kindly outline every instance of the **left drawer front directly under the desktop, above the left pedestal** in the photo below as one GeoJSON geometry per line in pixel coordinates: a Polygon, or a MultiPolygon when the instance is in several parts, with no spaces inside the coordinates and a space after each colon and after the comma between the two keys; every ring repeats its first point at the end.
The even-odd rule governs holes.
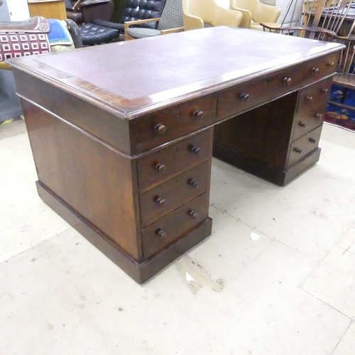
{"type": "Polygon", "coordinates": [[[198,131],[216,119],[214,95],[169,107],[158,114],[130,121],[133,154],[160,146],[176,138],[198,131]]]}

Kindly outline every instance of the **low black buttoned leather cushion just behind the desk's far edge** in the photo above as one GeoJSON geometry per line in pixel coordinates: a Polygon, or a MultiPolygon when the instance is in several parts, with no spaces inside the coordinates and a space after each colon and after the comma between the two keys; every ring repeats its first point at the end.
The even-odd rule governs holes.
{"type": "Polygon", "coordinates": [[[84,23],[82,26],[79,26],[79,31],[83,45],[109,43],[109,41],[119,37],[118,30],[95,25],[94,23],[84,23]]]}

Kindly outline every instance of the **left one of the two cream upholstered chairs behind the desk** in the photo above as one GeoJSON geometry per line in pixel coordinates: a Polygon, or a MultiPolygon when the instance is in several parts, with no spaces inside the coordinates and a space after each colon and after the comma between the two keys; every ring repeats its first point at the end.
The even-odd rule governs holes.
{"type": "Polygon", "coordinates": [[[185,31],[207,26],[239,27],[243,15],[227,10],[214,0],[182,0],[185,31]]]}

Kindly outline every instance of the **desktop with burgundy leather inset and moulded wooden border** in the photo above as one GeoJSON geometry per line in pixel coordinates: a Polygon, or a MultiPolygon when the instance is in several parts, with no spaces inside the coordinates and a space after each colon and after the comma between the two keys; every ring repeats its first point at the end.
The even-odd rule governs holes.
{"type": "Polygon", "coordinates": [[[14,68],[50,81],[121,119],[134,119],[202,93],[241,84],[256,75],[260,77],[281,67],[300,64],[321,53],[337,51],[339,46],[337,43],[219,26],[205,28],[203,32],[195,30],[146,38],[138,43],[112,43],[104,51],[96,46],[81,48],[75,53],[51,53],[49,57],[39,55],[9,62],[14,68]],[[268,40],[263,39],[267,36],[278,50],[270,50],[268,40]],[[185,50],[187,46],[189,50],[185,50]],[[168,47],[166,53],[161,52],[162,47],[168,47]],[[211,53],[216,48],[219,50],[211,53]],[[243,51],[236,53],[238,48],[243,51]],[[290,54],[292,48],[297,51],[290,54]],[[185,53],[181,56],[182,50],[185,53]],[[127,53],[135,55],[129,57],[127,53]],[[191,58],[198,63],[199,70],[195,70],[191,58]],[[147,68],[156,66],[157,60],[159,70],[149,72],[147,68]],[[70,67],[66,62],[71,63],[70,67]],[[180,70],[186,67],[191,70],[180,70]],[[124,75],[123,80],[111,80],[113,74],[124,75]],[[142,77],[147,77],[148,85],[142,83],[142,77]]]}

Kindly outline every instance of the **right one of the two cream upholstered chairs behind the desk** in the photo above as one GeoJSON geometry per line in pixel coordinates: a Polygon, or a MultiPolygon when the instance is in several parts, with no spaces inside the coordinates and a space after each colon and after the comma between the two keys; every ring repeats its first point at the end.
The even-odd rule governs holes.
{"type": "Polygon", "coordinates": [[[276,6],[262,4],[259,0],[230,0],[231,10],[243,13],[242,28],[263,31],[259,23],[276,23],[281,10],[276,6]]]}

